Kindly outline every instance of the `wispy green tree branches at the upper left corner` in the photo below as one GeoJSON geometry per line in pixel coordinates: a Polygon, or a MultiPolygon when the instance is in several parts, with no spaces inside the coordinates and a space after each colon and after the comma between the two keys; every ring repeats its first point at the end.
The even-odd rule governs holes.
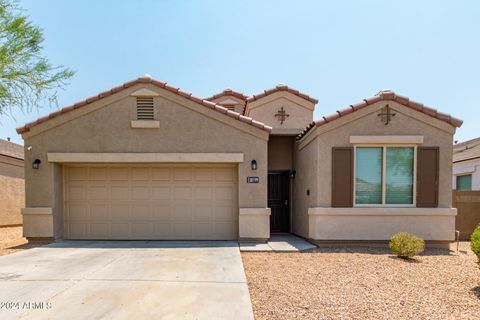
{"type": "Polygon", "coordinates": [[[42,55],[42,30],[22,13],[16,0],[0,0],[0,114],[56,103],[74,74],[42,55]]]}

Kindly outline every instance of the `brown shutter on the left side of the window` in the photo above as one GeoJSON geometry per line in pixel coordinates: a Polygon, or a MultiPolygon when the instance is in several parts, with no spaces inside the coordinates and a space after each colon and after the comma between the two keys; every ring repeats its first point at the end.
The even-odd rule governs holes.
{"type": "Polygon", "coordinates": [[[353,207],[353,148],[332,148],[332,207],[353,207]]]}

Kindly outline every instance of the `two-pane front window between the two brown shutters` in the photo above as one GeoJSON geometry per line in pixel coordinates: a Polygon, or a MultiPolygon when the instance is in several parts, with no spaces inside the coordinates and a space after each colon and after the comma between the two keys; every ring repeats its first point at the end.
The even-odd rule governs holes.
{"type": "Polygon", "coordinates": [[[413,205],[415,147],[355,148],[356,205],[413,205]]]}

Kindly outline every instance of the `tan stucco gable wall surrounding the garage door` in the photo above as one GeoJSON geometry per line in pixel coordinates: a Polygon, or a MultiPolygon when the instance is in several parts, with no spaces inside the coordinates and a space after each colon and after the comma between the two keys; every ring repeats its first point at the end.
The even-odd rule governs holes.
{"type": "Polygon", "coordinates": [[[239,164],[239,206],[267,206],[268,132],[198,105],[152,85],[135,85],[52,119],[24,134],[26,163],[42,161],[39,170],[26,168],[26,206],[53,207],[54,236],[62,237],[62,167],[47,161],[48,152],[145,152],[145,153],[243,153],[239,164]],[[158,129],[133,129],[135,98],[131,92],[146,87],[159,93],[154,98],[158,129]],[[102,107],[102,105],[106,105],[102,107]],[[75,114],[76,113],[76,114],[75,114]],[[74,118],[78,114],[83,116],[74,118]],[[72,120],[61,123],[63,119],[72,120]],[[229,125],[232,124],[232,125],[229,125]],[[250,161],[258,170],[253,172],[250,161]],[[247,176],[260,177],[260,183],[247,184],[247,176]]]}

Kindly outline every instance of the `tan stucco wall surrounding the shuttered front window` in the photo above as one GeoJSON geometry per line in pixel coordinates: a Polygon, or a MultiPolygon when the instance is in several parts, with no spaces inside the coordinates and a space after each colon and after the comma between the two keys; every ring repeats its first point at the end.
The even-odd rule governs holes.
{"type": "MultiPolygon", "coordinates": [[[[331,206],[332,147],[353,146],[349,138],[357,135],[418,135],[424,137],[423,144],[419,146],[440,147],[439,207],[450,208],[453,133],[452,126],[392,101],[378,102],[311,130],[296,143],[294,230],[302,236],[307,236],[305,216],[308,209],[331,206]],[[377,116],[387,103],[396,113],[388,126],[377,116]],[[312,179],[311,176],[315,178],[312,179]],[[313,196],[303,195],[307,188],[314,193],[313,196]]],[[[430,223],[434,221],[435,219],[430,219],[430,223]]]]}

